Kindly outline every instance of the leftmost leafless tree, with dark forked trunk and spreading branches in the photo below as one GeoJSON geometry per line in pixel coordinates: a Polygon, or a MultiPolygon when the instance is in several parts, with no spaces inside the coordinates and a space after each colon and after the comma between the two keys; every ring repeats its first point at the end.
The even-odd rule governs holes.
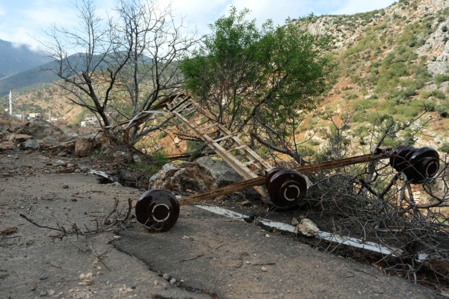
{"type": "Polygon", "coordinates": [[[51,41],[42,44],[53,60],[46,70],[61,78],[55,84],[68,92],[70,101],[87,108],[101,119],[100,124],[108,126],[106,111],[111,90],[129,59],[129,53],[113,59],[111,54],[117,47],[114,24],[112,20],[104,23],[104,19],[95,15],[93,1],[84,0],[81,5],[74,5],[78,26],[68,29],[53,24],[44,31],[51,41]],[[76,53],[71,54],[72,51],[76,53]]]}

